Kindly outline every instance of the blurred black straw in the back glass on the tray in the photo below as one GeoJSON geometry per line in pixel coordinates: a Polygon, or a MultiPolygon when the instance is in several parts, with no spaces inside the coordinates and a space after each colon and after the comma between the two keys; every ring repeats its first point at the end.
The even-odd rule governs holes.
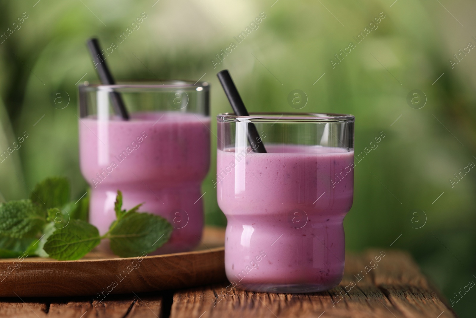
{"type": "MultiPolygon", "coordinates": [[[[112,74],[109,71],[108,66],[106,65],[106,61],[102,58],[98,39],[89,39],[87,44],[89,52],[91,53],[92,59],[96,65],[96,70],[98,72],[101,83],[104,85],[114,85],[116,82],[114,81],[114,78],[112,77],[112,74]]],[[[126,106],[124,106],[124,101],[122,100],[120,94],[118,92],[111,92],[110,96],[114,112],[119,114],[122,119],[129,120],[129,113],[126,110],[126,106]]]]}

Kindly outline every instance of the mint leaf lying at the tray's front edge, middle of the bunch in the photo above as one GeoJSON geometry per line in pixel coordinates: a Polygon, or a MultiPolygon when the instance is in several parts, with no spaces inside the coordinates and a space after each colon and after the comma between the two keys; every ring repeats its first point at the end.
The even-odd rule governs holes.
{"type": "Polygon", "coordinates": [[[96,226],[81,220],[71,220],[68,226],[56,229],[48,237],[43,249],[51,258],[72,260],[88,254],[100,241],[96,226]]]}

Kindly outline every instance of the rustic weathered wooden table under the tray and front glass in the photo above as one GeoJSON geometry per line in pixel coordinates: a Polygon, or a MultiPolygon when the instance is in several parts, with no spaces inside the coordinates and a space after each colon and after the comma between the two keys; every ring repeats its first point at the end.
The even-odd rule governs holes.
{"type": "Polygon", "coordinates": [[[408,254],[369,250],[347,255],[341,284],[326,292],[254,293],[231,288],[228,282],[223,282],[187,290],[110,296],[102,302],[93,297],[0,298],[0,317],[448,318],[456,315],[429,286],[408,254]]]}

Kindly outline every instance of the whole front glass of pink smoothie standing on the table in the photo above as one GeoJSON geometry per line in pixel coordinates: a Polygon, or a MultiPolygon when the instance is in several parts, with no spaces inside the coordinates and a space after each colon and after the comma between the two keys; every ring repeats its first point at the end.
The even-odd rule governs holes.
{"type": "Polygon", "coordinates": [[[336,287],[344,271],[343,220],[354,191],[354,116],[223,113],[217,120],[228,280],[261,292],[336,287]],[[266,153],[249,143],[251,124],[266,153]]]}

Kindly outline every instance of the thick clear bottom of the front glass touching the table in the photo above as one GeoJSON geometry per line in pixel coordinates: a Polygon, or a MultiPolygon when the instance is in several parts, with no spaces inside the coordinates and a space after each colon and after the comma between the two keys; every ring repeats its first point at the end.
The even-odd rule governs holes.
{"type": "MultiPolygon", "coordinates": [[[[338,284],[337,284],[338,285],[338,284]]],[[[263,293],[316,293],[336,287],[337,285],[314,284],[239,284],[237,288],[263,293]]]]}

